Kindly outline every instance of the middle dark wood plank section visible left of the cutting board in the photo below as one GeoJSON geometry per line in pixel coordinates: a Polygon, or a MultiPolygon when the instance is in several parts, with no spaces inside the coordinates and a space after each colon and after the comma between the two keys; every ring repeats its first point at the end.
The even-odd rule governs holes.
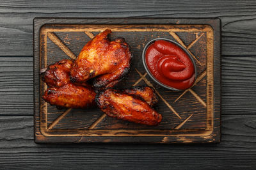
{"type": "Polygon", "coordinates": [[[0,115],[33,114],[33,58],[0,57],[0,115]]]}

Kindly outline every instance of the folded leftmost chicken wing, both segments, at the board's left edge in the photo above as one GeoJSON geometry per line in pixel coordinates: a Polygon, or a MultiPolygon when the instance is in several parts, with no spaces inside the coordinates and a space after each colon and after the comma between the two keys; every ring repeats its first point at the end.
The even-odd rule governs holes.
{"type": "Polygon", "coordinates": [[[95,95],[89,84],[74,84],[70,82],[70,68],[73,61],[62,59],[48,66],[44,72],[44,81],[49,86],[45,91],[45,102],[58,107],[88,108],[95,105],[95,95]]]}

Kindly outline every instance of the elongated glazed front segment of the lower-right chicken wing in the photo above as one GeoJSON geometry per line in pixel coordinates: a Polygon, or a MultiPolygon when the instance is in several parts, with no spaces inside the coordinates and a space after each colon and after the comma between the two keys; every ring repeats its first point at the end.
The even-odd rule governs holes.
{"type": "Polygon", "coordinates": [[[95,97],[99,108],[108,116],[144,125],[158,125],[162,116],[139,98],[115,89],[101,91],[95,97]]]}

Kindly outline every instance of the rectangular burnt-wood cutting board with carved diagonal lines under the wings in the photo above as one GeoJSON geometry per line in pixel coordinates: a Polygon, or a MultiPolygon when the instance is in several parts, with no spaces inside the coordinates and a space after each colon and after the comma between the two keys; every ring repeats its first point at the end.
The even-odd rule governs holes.
{"type": "Polygon", "coordinates": [[[219,19],[34,19],[34,102],[36,143],[218,143],[220,142],[219,19]],[[125,38],[133,53],[131,72],[116,88],[147,85],[156,90],[156,127],[109,118],[100,109],[56,109],[42,100],[47,89],[40,69],[61,59],[76,59],[83,46],[109,28],[111,40],[125,38]],[[195,58],[192,88],[173,92],[147,75],[142,50],[154,38],[180,43],[195,58]]]}

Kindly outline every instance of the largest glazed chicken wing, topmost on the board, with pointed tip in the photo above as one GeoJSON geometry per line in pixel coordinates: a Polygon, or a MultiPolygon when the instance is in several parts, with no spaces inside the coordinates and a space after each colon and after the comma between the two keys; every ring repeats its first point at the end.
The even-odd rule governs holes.
{"type": "Polygon", "coordinates": [[[123,38],[108,40],[106,29],[84,45],[70,71],[72,82],[86,82],[95,78],[97,89],[111,88],[124,77],[130,68],[131,52],[123,38]]]}

